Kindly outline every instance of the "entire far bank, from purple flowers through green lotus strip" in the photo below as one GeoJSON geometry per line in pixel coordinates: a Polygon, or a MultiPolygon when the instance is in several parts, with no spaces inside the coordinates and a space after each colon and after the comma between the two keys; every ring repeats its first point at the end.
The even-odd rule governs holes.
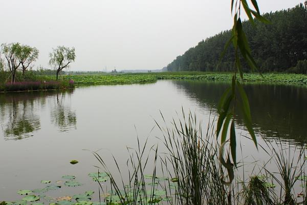
{"type": "MultiPolygon", "coordinates": [[[[176,80],[216,80],[231,81],[233,73],[208,73],[208,72],[162,72],[162,73],[126,73],[126,74],[90,74],[90,75],[62,75],[59,81],[55,76],[36,76],[37,81],[23,81],[15,84],[5,83],[0,85],[0,92],[54,90],[72,88],[73,85],[117,85],[155,83],[160,79],[176,80]]],[[[307,84],[305,74],[283,73],[256,73],[244,74],[244,81],[259,83],[279,84],[307,84]]]]}

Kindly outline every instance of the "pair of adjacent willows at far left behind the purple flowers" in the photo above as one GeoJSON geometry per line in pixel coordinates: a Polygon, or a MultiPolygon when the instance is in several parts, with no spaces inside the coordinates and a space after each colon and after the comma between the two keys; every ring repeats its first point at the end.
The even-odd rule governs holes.
{"type": "MultiPolygon", "coordinates": [[[[38,50],[28,45],[19,43],[2,44],[1,52],[7,60],[8,68],[11,72],[11,83],[15,83],[17,69],[22,67],[23,75],[30,64],[38,58],[38,50]]],[[[0,66],[4,67],[4,62],[0,60],[0,66]]]]}

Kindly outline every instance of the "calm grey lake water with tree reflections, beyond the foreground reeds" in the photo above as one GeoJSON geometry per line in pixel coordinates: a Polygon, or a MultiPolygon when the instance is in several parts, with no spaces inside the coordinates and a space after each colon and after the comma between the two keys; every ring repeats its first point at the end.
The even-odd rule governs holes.
{"type": "MultiPolygon", "coordinates": [[[[126,147],[149,137],[161,141],[155,120],[180,116],[182,108],[196,113],[204,127],[216,116],[218,99],[229,87],[214,81],[160,80],[154,84],[79,87],[68,91],[0,94],[0,201],[16,200],[20,189],[38,189],[72,174],[84,185],[64,187],[50,196],[98,190],[87,176],[96,172],[98,150],[111,171],[112,155],[121,165],[126,147]],[[211,115],[210,115],[211,113],[211,115]],[[152,129],[153,128],[153,129],[152,129]],[[76,165],[69,162],[79,161],[76,165]]],[[[247,84],[254,128],[259,143],[280,137],[283,144],[303,144],[307,139],[307,88],[297,85],[247,84]]],[[[246,135],[240,116],[237,133],[246,135]]],[[[266,158],[242,137],[243,153],[266,158]]],[[[161,146],[163,151],[163,146],[161,146]]],[[[161,151],[161,152],[162,152],[161,151]]],[[[18,198],[19,197],[19,198],[18,198]]],[[[97,195],[95,195],[97,199],[97,195]]]]}

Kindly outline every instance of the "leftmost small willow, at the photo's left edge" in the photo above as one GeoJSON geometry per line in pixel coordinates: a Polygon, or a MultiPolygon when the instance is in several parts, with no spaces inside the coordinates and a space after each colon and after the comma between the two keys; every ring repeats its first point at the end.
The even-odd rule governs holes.
{"type": "Polygon", "coordinates": [[[11,44],[2,44],[1,50],[4,54],[7,62],[8,68],[11,72],[11,83],[15,83],[16,72],[20,66],[19,55],[21,52],[22,46],[19,43],[11,43],[11,44]]]}

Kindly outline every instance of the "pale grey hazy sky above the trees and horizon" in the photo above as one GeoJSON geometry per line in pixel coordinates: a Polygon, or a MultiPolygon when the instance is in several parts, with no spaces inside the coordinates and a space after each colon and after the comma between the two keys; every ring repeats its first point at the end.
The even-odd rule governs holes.
{"type": "MultiPolygon", "coordinates": [[[[258,0],[260,11],[294,7],[303,0],[258,0]]],[[[71,70],[161,69],[176,56],[230,29],[230,0],[0,0],[0,43],[49,52],[75,47],[71,70]]]]}

